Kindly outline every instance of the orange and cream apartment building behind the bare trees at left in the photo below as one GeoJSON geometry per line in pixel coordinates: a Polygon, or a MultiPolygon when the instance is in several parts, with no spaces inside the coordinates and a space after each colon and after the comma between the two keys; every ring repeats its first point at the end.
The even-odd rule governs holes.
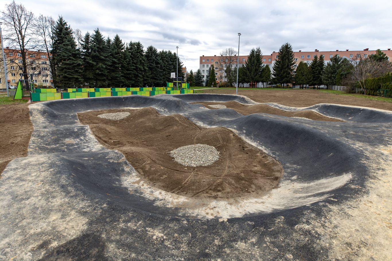
{"type": "MultiPolygon", "coordinates": [[[[16,86],[23,73],[22,54],[17,49],[6,47],[4,48],[4,56],[7,67],[7,84],[8,86],[16,86]]],[[[46,52],[27,52],[27,72],[33,74],[33,82],[37,87],[53,86],[49,58],[46,52]]],[[[0,55],[0,89],[6,89],[2,55],[0,55]]]]}

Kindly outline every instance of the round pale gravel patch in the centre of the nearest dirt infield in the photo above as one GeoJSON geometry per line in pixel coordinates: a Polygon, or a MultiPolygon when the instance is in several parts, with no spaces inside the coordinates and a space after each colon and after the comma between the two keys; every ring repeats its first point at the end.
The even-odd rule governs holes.
{"type": "Polygon", "coordinates": [[[170,156],[184,166],[208,166],[219,159],[219,151],[206,144],[195,144],[172,150],[170,156]]]}

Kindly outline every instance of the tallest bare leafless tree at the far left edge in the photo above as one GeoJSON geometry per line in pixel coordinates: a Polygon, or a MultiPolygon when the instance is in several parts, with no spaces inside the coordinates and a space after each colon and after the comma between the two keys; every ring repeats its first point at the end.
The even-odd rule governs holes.
{"type": "Polygon", "coordinates": [[[34,14],[27,11],[24,5],[13,1],[5,5],[5,11],[2,11],[2,21],[5,25],[4,40],[11,48],[19,50],[22,57],[22,71],[27,80],[27,55],[30,50],[36,49],[38,42],[34,14]]]}

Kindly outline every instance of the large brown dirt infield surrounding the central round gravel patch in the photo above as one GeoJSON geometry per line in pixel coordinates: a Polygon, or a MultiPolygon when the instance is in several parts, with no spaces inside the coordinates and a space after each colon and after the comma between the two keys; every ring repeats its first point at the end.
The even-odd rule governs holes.
{"type": "Polygon", "coordinates": [[[213,199],[262,196],[276,188],[283,176],[281,164],[225,128],[202,129],[180,115],[161,116],[152,108],[103,110],[78,114],[96,138],[116,149],[144,182],[187,197],[213,199]],[[129,112],[124,120],[97,117],[129,112]],[[170,151],[191,144],[215,147],[220,158],[209,166],[185,167],[170,151]]]}

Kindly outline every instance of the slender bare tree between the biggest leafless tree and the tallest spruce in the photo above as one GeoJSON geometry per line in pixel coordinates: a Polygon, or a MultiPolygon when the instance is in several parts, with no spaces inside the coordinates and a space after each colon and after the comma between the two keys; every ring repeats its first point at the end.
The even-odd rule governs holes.
{"type": "Polygon", "coordinates": [[[36,30],[38,34],[38,40],[40,42],[40,48],[45,51],[47,54],[51,75],[54,78],[56,71],[53,63],[53,58],[51,55],[51,51],[53,48],[53,32],[56,22],[53,20],[51,16],[43,16],[42,14],[38,16],[36,22],[36,30]]]}

